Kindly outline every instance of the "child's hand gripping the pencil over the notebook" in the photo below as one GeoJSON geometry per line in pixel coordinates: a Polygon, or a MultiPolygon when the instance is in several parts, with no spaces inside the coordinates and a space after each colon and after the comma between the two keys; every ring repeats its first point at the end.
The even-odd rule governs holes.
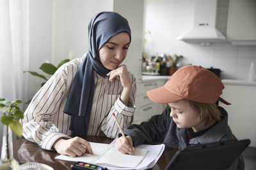
{"type": "Polygon", "coordinates": [[[116,138],[116,150],[118,150],[119,152],[125,153],[125,154],[130,154],[132,155],[132,152],[134,152],[135,148],[132,147],[133,143],[132,143],[132,138],[131,136],[126,136],[126,139],[129,143],[127,143],[124,139],[123,136],[121,136],[120,138],[116,138]]]}

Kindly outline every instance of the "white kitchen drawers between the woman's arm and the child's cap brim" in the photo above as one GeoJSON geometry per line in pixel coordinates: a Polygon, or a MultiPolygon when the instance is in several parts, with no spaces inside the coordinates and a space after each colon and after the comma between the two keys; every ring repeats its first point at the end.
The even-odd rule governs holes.
{"type": "Polygon", "coordinates": [[[166,105],[154,103],[151,101],[147,96],[147,91],[163,86],[167,80],[153,79],[147,81],[138,81],[136,93],[136,110],[132,124],[140,124],[143,121],[149,120],[153,115],[158,115],[163,112],[166,105]]]}

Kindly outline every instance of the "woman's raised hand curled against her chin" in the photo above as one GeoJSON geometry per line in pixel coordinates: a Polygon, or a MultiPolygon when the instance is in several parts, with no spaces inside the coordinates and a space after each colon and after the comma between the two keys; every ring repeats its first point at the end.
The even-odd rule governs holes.
{"type": "Polygon", "coordinates": [[[107,76],[109,76],[109,81],[113,81],[116,76],[119,76],[124,88],[131,89],[132,87],[127,67],[125,65],[120,65],[116,69],[113,69],[107,74],[107,76]]]}

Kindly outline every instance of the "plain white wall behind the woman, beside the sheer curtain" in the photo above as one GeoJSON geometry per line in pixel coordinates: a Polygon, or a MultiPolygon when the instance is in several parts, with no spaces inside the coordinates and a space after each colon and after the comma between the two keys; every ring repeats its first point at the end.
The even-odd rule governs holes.
{"type": "MultiPolygon", "coordinates": [[[[29,1],[29,71],[37,71],[45,60],[57,65],[88,50],[88,23],[100,11],[113,11],[113,0],[30,0],[29,1]]],[[[26,73],[27,74],[27,73],[26,73]]],[[[44,80],[29,75],[28,99],[44,80]]]]}

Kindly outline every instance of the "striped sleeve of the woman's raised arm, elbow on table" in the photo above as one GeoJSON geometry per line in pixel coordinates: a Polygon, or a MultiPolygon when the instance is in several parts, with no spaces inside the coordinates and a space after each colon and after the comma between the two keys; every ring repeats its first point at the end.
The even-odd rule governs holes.
{"type": "Polygon", "coordinates": [[[128,106],[125,106],[120,97],[116,99],[115,104],[112,106],[111,110],[108,113],[106,118],[106,127],[102,126],[101,130],[104,132],[108,138],[118,137],[120,133],[118,125],[115,122],[115,118],[112,116],[112,113],[115,113],[118,123],[122,129],[127,129],[131,124],[134,116],[135,106],[135,95],[136,95],[136,79],[132,76],[132,92],[129,98],[128,106]]]}

